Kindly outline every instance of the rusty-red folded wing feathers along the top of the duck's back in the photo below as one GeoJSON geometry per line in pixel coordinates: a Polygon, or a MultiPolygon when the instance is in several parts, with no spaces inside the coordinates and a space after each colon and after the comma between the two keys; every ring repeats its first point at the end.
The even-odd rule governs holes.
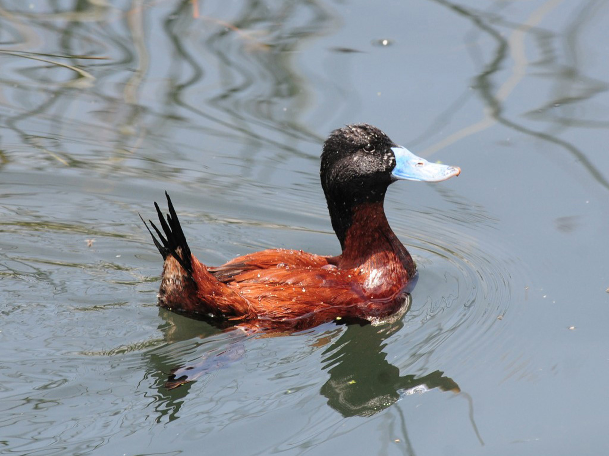
{"type": "Polygon", "coordinates": [[[302,250],[267,249],[261,252],[233,258],[228,263],[208,271],[220,282],[233,282],[237,275],[248,271],[261,271],[276,268],[322,268],[328,264],[330,257],[309,254],[302,250]]]}

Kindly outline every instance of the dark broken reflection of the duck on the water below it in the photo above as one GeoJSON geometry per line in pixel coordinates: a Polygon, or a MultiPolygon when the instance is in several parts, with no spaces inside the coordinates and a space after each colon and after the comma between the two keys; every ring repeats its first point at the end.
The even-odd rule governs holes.
{"type": "MultiPolygon", "coordinates": [[[[150,375],[157,378],[160,395],[155,408],[160,419],[169,415],[177,418],[177,412],[193,381],[205,381],[206,375],[238,362],[247,350],[247,339],[252,337],[281,336],[280,334],[246,334],[241,330],[216,328],[205,322],[159,309],[165,320],[161,329],[169,343],[202,339],[208,350],[196,362],[180,365],[180,358],[192,353],[193,345],[168,351],[167,346],[147,354],[151,364],[150,375]],[[179,367],[177,367],[179,366],[179,367]]],[[[371,416],[391,406],[400,398],[414,392],[430,389],[459,392],[459,385],[433,371],[424,376],[400,375],[400,369],[387,361],[383,350],[385,340],[402,328],[400,321],[380,326],[350,324],[344,331],[330,331],[320,335],[315,345],[328,345],[324,351],[322,370],[329,379],[320,393],[328,399],[328,405],[343,416],[371,416]],[[337,334],[340,336],[337,337],[337,334]]]]}

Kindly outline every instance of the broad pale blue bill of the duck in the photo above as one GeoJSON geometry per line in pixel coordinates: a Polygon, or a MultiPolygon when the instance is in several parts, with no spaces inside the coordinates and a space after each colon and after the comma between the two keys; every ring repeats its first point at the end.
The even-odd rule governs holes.
{"type": "Polygon", "coordinates": [[[407,181],[440,182],[459,176],[461,168],[458,166],[430,163],[426,159],[417,157],[405,147],[392,147],[395,155],[395,168],[391,172],[396,179],[407,181]]]}

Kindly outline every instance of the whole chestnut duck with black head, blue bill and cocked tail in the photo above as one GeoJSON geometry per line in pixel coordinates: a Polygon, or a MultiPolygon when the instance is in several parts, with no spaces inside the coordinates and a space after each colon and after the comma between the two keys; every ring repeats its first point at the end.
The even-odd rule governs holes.
{"type": "Polygon", "coordinates": [[[323,143],[320,179],[339,255],[276,248],[207,266],[192,253],[169,194],[160,228],[142,219],[163,256],[158,305],[244,330],[304,330],[322,323],[382,322],[409,302],[417,266],[384,211],[390,184],[440,182],[456,166],[429,162],[367,123],[323,143]],[[156,233],[156,236],[155,236],[156,233]]]}

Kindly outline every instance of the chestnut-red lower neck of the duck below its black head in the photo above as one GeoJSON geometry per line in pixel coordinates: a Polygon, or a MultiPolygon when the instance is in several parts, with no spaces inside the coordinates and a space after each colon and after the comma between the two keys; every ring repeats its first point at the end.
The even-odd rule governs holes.
{"type": "MultiPolygon", "coordinates": [[[[389,226],[383,201],[362,202],[350,208],[348,218],[336,220],[331,214],[333,227],[342,247],[341,268],[361,268],[367,263],[386,261],[387,266],[398,266],[408,277],[416,272],[416,266],[406,247],[389,226]]],[[[369,265],[370,266],[370,265],[369,265]]]]}

